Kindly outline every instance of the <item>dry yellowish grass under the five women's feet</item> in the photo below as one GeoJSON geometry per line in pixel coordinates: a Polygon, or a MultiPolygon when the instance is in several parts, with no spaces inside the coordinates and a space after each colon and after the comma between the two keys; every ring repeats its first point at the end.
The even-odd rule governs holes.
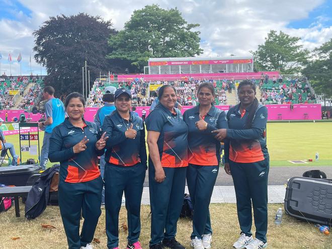
{"type": "MultiPolygon", "coordinates": [[[[20,205],[21,214],[24,213],[24,205],[20,205]]],[[[278,249],[323,249],[332,248],[331,235],[321,234],[313,224],[296,220],[284,214],[280,226],[274,224],[274,216],[281,204],[269,204],[269,228],[268,228],[268,248],[278,249]]],[[[141,206],[141,235],[140,241],[143,248],[148,248],[150,238],[150,217],[148,216],[150,207],[141,206]]],[[[239,235],[239,226],[236,215],[235,204],[211,204],[211,222],[213,227],[212,248],[223,249],[232,248],[233,242],[239,235]]],[[[126,210],[124,207],[120,211],[119,221],[119,248],[126,247],[127,231],[122,224],[127,224],[126,210]]],[[[26,220],[24,217],[16,218],[14,208],[6,213],[0,214],[0,230],[2,231],[0,248],[67,248],[66,236],[62,226],[59,208],[48,206],[44,213],[35,220],[26,220]],[[52,225],[56,228],[43,228],[41,224],[52,225]],[[17,238],[17,239],[15,239],[17,238]]],[[[186,247],[190,247],[190,234],[192,231],[192,221],[180,219],[178,221],[177,239],[186,247]]],[[[255,226],[253,226],[255,234],[255,226]]],[[[95,248],[107,248],[107,238],[105,233],[105,209],[96,229],[95,238],[100,243],[94,243],[95,248]]]]}

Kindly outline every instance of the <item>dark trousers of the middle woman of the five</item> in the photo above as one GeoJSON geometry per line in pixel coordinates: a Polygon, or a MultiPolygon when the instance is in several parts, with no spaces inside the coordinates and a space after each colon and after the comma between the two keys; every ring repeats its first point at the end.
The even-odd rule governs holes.
{"type": "Polygon", "coordinates": [[[183,205],[187,167],[163,168],[163,170],[166,178],[162,183],[157,183],[154,180],[154,165],[149,160],[150,245],[158,244],[164,238],[175,238],[183,205]]]}

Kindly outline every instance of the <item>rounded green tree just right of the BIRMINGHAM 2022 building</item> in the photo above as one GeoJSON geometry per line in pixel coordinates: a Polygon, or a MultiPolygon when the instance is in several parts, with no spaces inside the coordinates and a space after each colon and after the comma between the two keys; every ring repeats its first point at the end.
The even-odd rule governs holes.
{"type": "Polygon", "coordinates": [[[271,30],[265,43],[252,52],[258,70],[280,70],[281,73],[296,73],[307,62],[309,51],[298,45],[299,37],[271,30]]]}

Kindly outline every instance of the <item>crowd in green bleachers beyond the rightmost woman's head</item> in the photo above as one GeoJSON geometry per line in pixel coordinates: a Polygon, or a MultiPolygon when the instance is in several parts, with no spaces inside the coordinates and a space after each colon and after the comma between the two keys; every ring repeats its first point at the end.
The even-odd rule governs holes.
{"type": "Polygon", "coordinates": [[[306,82],[296,78],[293,80],[269,78],[260,82],[261,102],[264,104],[307,104],[315,103],[315,95],[311,93],[306,82]]]}

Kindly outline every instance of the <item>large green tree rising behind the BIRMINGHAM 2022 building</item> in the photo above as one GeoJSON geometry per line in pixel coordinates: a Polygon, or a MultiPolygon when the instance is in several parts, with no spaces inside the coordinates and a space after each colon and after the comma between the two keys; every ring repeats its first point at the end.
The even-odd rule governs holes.
{"type": "Polygon", "coordinates": [[[142,71],[149,58],[186,57],[203,52],[199,24],[188,24],[177,8],[163,10],[158,5],[135,10],[124,29],[111,36],[111,59],[130,61],[142,71]]]}

